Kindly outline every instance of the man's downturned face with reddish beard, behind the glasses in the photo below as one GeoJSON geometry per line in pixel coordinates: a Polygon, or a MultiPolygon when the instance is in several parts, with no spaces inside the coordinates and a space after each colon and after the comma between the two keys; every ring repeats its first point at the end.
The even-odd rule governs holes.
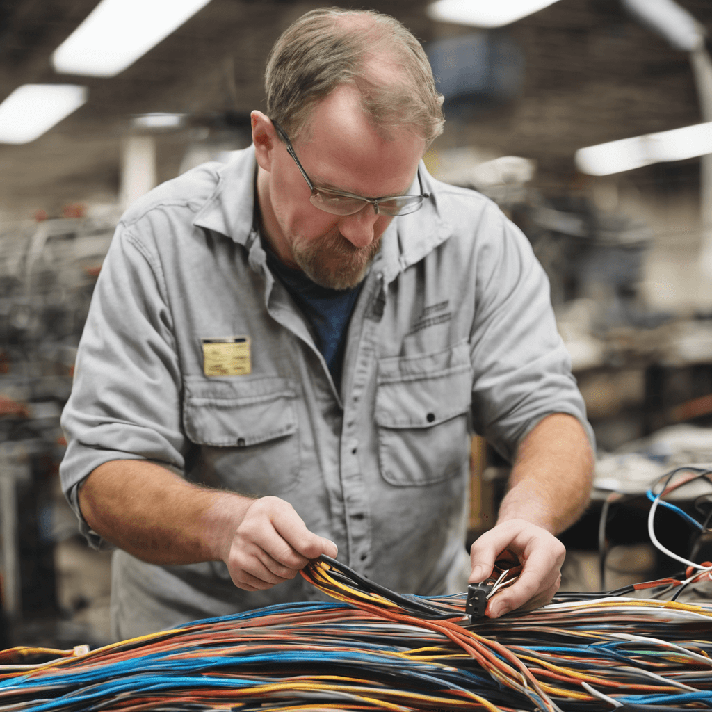
{"type": "MultiPolygon", "coordinates": [[[[406,130],[394,132],[392,140],[380,136],[350,86],[315,108],[305,133],[293,145],[313,184],[362,197],[407,193],[425,148],[422,138],[406,130]]],[[[371,205],[352,215],[333,215],[314,206],[310,194],[286,145],[275,138],[268,170],[258,176],[263,229],[273,249],[318,284],[357,285],[392,216],[375,214],[371,205]]]]}

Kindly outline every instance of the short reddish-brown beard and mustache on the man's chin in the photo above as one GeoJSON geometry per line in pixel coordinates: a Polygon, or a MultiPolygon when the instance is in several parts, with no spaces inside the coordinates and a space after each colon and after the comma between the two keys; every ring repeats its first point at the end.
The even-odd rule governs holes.
{"type": "Polygon", "coordinates": [[[330,289],[351,289],[366,276],[381,248],[380,238],[365,247],[355,247],[336,230],[320,238],[296,237],[292,257],[311,281],[330,289]]]}

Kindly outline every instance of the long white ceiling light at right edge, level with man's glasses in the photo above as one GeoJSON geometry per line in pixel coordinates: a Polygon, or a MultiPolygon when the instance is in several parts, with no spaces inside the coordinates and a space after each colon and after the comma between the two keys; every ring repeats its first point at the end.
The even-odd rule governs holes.
{"type": "Polygon", "coordinates": [[[708,153],[712,153],[712,122],[580,148],[575,161],[582,173],[605,176],[708,153]]]}

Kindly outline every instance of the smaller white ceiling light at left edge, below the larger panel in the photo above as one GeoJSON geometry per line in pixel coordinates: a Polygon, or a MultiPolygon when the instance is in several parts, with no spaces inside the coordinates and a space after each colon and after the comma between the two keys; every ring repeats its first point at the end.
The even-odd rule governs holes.
{"type": "Polygon", "coordinates": [[[0,143],[29,143],[87,100],[75,84],[24,84],[0,104],[0,143]]]}

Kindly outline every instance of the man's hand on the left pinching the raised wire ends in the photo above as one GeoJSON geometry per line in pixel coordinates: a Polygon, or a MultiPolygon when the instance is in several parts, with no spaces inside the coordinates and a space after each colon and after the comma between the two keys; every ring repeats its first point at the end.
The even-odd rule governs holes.
{"type": "Polygon", "coordinates": [[[290,503],[262,497],[244,513],[224,561],[238,588],[257,591],[293,579],[322,554],[335,558],[335,543],[310,532],[290,503]]]}

